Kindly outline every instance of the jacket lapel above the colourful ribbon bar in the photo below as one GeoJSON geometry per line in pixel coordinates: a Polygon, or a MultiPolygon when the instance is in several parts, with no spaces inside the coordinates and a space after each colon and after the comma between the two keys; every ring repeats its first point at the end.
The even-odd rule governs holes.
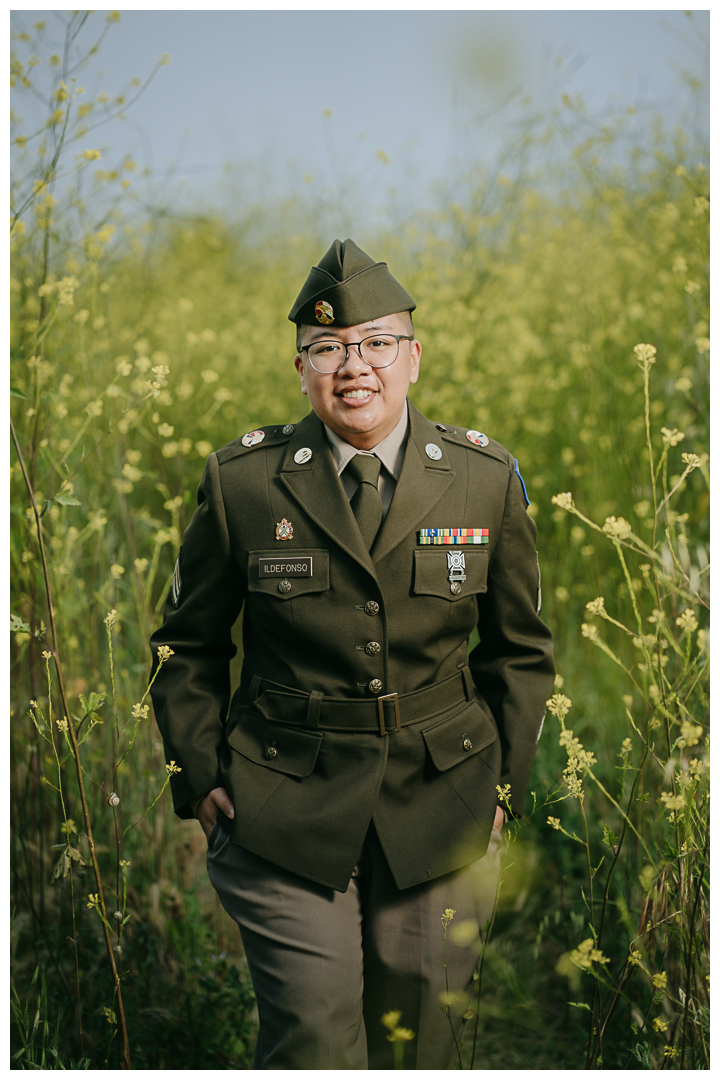
{"type": "Polygon", "coordinates": [[[376,564],[389,555],[425,517],[454,478],[454,472],[445,455],[438,461],[433,461],[425,454],[427,443],[441,443],[435,426],[410,401],[408,410],[410,432],[403,471],[372,546],[372,561],[376,564]]]}

